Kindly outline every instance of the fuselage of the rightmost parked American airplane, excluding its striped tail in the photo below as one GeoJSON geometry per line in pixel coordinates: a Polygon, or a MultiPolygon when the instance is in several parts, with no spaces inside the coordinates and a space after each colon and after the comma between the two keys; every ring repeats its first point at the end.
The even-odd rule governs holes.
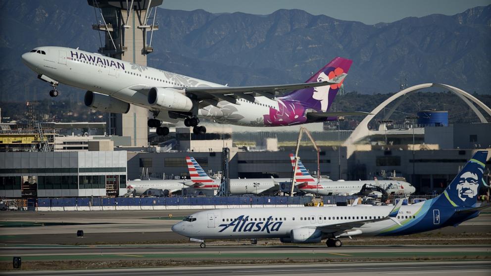
{"type": "Polygon", "coordinates": [[[320,182],[319,184],[298,185],[304,192],[319,195],[353,195],[360,192],[364,184],[379,186],[386,190],[388,194],[412,194],[416,191],[413,185],[403,181],[374,180],[366,181],[330,181],[320,182]]]}

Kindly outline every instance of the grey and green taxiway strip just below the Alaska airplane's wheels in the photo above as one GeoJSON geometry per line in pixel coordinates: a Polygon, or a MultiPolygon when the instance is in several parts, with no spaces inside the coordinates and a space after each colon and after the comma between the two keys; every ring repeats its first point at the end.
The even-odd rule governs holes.
{"type": "Polygon", "coordinates": [[[489,246],[43,246],[6,247],[0,261],[431,260],[491,259],[489,246]]]}

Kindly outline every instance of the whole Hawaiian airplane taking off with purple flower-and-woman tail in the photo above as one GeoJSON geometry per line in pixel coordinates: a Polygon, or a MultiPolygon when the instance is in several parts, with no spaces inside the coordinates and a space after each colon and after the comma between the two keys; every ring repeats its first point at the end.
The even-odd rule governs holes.
{"type": "Polygon", "coordinates": [[[228,87],[192,77],[72,48],[36,47],[23,62],[48,82],[51,96],[63,83],[87,90],[84,102],[102,112],[127,113],[130,104],[145,107],[153,118],[148,127],[158,135],[169,129],[162,121],[184,119],[195,134],[206,133],[199,118],[252,127],[290,126],[337,120],[366,112],[327,112],[352,61],[336,57],[305,83],[228,87]],[[277,92],[292,91],[276,97],[277,92]]]}

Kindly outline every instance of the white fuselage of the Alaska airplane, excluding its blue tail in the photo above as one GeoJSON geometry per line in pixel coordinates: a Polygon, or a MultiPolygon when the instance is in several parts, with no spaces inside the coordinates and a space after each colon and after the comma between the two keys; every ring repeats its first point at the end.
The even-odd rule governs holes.
{"type": "MultiPolygon", "coordinates": [[[[394,206],[282,207],[239,208],[201,211],[191,215],[196,221],[182,221],[172,230],[192,238],[289,238],[291,231],[386,217],[394,206]],[[237,221],[239,219],[240,221],[237,221]]],[[[406,205],[399,209],[397,220],[404,224],[422,205],[406,205]],[[404,214],[404,215],[402,215],[404,214]]],[[[397,226],[392,220],[368,223],[359,235],[371,236],[397,226]]]]}

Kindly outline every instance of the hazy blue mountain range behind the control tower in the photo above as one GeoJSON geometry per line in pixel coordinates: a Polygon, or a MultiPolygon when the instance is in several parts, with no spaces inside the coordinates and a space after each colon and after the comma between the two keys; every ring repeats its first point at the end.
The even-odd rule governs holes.
{"type": "MultiPolygon", "coordinates": [[[[165,4],[165,2],[164,2],[165,4]]],[[[48,97],[20,55],[36,46],[96,52],[87,1],[0,1],[0,101],[48,97]]],[[[99,16],[100,20],[100,16],[99,16]]],[[[304,82],[336,56],[353,59],[344,90],[392,93],[438,82],[491,93],[491,5],[366,25],[302,10],[269,15],[158,8],[148,65],[229,86],[304,82]]],[[[84,91],[60,86],[61,98],[84,91]]]]}

